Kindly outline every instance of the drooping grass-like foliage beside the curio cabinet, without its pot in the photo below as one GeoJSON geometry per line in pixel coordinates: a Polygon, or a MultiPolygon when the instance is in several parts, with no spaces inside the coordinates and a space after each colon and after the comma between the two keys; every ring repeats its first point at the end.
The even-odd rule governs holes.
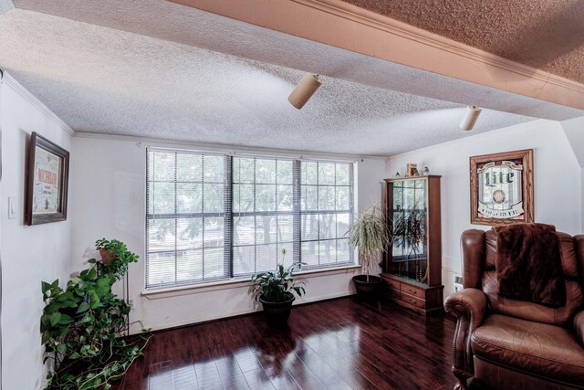
{"type": "Polygon", "coordinates": [[[349,244],[360,254],[367,282],[371,266],[391,245],[390,228],[381,205],[370,206],[360,213],[349,228],[349,244]]]}

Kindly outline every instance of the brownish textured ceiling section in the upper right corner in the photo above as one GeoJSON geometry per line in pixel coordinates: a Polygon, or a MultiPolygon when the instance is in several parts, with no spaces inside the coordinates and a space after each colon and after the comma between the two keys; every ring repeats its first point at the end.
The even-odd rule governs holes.
{"type": "Polygon", "coordinates": [[[343,0],[584,83],[582,0],[343,0]]]}

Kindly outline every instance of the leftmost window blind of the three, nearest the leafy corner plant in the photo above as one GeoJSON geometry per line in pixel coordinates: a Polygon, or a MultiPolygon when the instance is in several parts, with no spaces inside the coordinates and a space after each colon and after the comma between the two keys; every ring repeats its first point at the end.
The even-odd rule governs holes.
{"type": "Polygon", "coordinates": [[[148,149],[146,287],[231,277],[231,157],[148,149]]]}

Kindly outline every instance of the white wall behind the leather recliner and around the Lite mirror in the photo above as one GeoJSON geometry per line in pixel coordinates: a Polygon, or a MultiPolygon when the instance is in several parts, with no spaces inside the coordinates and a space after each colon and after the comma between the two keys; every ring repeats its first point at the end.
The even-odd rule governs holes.
{"type": "MultiPolygon", "coordinates": [[[[479,120],[480,121],[480,120],[479,120]]],[[[441,174],[444,297],[452,293],[453,275],[462,271],[459,239],[470,223],[469,157],[521,149],[534,150],[534,197],[537,222],[570,234],[582,231],[582,176],[566,134],[557,121],[531,121],[409,153],[391,156],[388,174],[407,163],[427,165],[441,174]]]]}

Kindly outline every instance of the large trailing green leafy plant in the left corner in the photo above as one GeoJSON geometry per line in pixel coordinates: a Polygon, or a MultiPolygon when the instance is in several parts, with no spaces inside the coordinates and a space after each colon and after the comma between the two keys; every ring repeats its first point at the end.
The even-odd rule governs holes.
{"type": "MultiPolygon", "coordinates": [[[[96,246],[104,244],[99,240],[96,246]]],[[[40,321],[47,359],[55,360],[56,371],[47,374],[46,389],[110,388],[139,356],[150,338],[120,338],[128,326],[130,306],[111,292],[114,282],[138,257],[120,241],[107,264],[92,258],[91,268],[68,280],[61,289],[58,279],[42,282],[47,306],[40,321]],[[121,249],[120,249],[121,248],[121,249]]]]}

